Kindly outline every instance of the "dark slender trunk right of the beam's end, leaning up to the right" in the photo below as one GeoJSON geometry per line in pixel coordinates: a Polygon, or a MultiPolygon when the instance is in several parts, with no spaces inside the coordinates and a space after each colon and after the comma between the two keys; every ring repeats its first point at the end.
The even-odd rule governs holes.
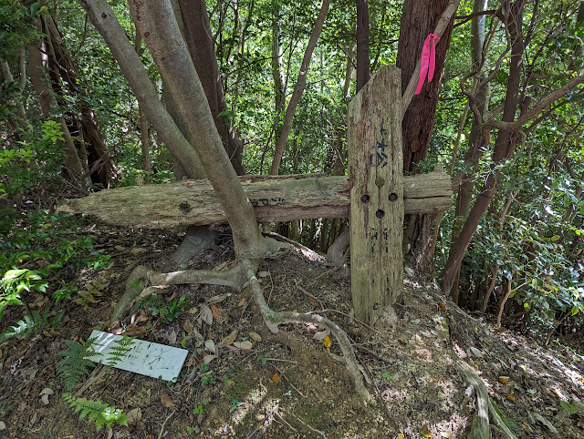
{"type": "MultiPolygon", "coordinates": [[[[523,35],[522,35],[522,12],[524,0],[517,0],[510,5],[510,10],[507,23],[509,35],[511,37],[511,59],[509,66],[509,78],[507,80],[505,108],[503,110],[503,121],[513,122],[516,117],[516,109],[518,103],[519,85],[521,83],[521,69],[523,65],[523,35]]],[[[503,163],[507,158],[511,157],[513,150],[518,141],[517,135],[512,131],[499,130],[495,141],[495,150],[493,152],[493,164],[491,165],[491,172],[489,173],[485,185],[474,202],[473,209],[471,209],[468,219],[464,221],[463,230],[456,237],[448,255],[446,265],[439,276],[439,284],[444,293],[450,294],[456,271],[458,271],[460,264],[464,257],[464,252],[473,239],[474,231],[478,226],[481,218],[485,214],[486,209],[493,199],[493,194],[500,180],[500,174],[497,171],[497,166],[503,163]]]]}

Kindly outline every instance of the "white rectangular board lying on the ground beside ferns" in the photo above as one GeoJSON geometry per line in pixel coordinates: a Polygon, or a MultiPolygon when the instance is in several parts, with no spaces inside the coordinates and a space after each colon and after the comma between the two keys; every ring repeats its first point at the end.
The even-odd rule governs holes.
{"type": "MultiPolygon", "coordinates": [[[[89,360],[108,364],[111,351],[120,347],[117,341],[123,337],[110,334],[110,332],[94,331],[91,332],[91,338],[97,339],[93,342],[93,349],[100,355],[91,357],[89,360]]],[[[165,381],[175,381],[181,373],[188,353],[186,349],[134,339],[131,342],[130,351],[126,352],[113,367],[165,381]]]]}

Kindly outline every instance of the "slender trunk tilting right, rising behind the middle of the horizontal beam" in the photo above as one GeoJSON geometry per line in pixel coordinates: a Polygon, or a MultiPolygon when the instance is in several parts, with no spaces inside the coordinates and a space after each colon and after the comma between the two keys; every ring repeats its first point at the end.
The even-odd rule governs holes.
{"type": "Polygon", "coordinates": [[[278,173],[278,168],[280,167],[280,162],[282,161],[282,156],[284,155],[284,150],[286,149],[288,138],[290,136],[290,130],[292,129],[294,113],[296,112],[296,108],[300,102],[300,97],[302,97],[302,93],[304,93],[304,89],[307,87],[307,75],[308,66],[310,65],[310,58],[312,57],[312,52],[314,51],[315,46],[317,46],[318,36],[320,36],[320,31],[322,30],[322,26],[325,23],[325,18],[327,17],[329,6],[330,0],[322,0],[322,5],[320,6],[320,12],[318,13],[317,21],[312,28],[312,34],[308,39],[308,46],[304,51],[304,57],[302,58],[302,65],[300,66],[300,72],[298,73],[296,86],[294,87],[294,93],[292,94],[292,97],[290,97],[290,102],[288,102],[288,107],[286,108],[282,133],[280,138],[277,140],[276,151],[274,152],[274,159],[272,160],[270,175],[277,175],[278,173]]]}

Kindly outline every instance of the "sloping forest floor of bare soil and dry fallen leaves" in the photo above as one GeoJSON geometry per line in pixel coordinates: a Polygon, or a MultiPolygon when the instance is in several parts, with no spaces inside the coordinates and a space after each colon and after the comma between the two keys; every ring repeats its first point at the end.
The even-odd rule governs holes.
{"type": "MultiPolygon", "coordinates": [[[[63,400],[57,352],[67,348],[64,340],[86,341],[92,330],[104,329],[131,268],[168,257],[180,237],[105,226],[87,233],[96,249],[112,256],[110,267],[76,273],[86,292],[68,302],[59,328],[0,344],[0,437],[463,438],[476,413],[476,393],[456,372],[457,359],[482,378],[517,437],[584,437],[581,337],[550,348],[495,332],[493,322],[467,315],[433,284],[412,279],[395,314],[371,328],[350,318],[347,267],[294,252],[261,264],[266,300],[276,311],[316,312],[337,322],[370,377],[372,403],[365,406],[354,393],[349,373],[330,354],[341,354],[337,342],[318,327],[287,324],[273,334],[251,291],[178,285],[162,296],[168,303],[186,295],[181,315],[163,322],[145,307],[126,329],[141,340],[187,349],[182,372],[167,383],[103,365],[92,369],[79,396],[115,405],[130,421],[97,432],[63,400]],[[229,335],[227,342],[233,341],[218,347],[229,335]]],[[[190,268],[228,265],[233,257],[225,238],[190,268]]],[[[31,302],[40,311],[51,303],[43,297],[31,302]]],[[[22,317],[16,311],[22,310],[7,312],[2,331],[22,317]]]]}

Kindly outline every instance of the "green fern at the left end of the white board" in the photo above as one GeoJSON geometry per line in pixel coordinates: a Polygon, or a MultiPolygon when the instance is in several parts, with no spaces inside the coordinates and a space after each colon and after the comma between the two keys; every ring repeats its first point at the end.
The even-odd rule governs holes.
{"type": "Polygon", "coordinates": [[[65,357],[57,363],[59,365],[58,376],[64,381],[65,389],[68,392],[72,391],[75,384],[79,383],[81,378],[89,373],[89,368],[95,365],[89,358],[101,355],[93,349],[92,344],[96,340],[93,337],[83,344],[66,340],[65,343],[68,345],[68,349],[57,352],[65,357]]]}

